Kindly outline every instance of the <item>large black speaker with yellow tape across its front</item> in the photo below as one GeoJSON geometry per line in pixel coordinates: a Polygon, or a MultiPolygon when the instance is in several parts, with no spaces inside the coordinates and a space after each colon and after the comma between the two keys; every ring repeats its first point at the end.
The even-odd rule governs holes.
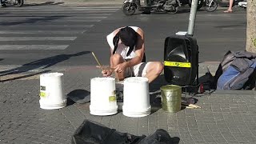
{"type": "Polygon", "coordinates": [[[198,44],[188,35],[173,35],[165,40],[164,76],[178,86],[198,85],[198,44]]]}

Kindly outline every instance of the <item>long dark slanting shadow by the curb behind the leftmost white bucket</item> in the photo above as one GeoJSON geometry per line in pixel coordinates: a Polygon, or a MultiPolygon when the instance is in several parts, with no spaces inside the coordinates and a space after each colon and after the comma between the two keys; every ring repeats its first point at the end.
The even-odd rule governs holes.
{"type": "Polygon", "coordinates": [[[54,66],[58,62],[63,62],[72,57],[80,56],[83,54],[89,54],[89,53],[90,53],[90,51],[82,51],[82,52],[78,52],[76,54],[58,54],[53,57],[42,58],[42,59],[39,59],[34,62],[26,63],[22,66],[14,68],[14,69],[0,71],[0,76],[5,76],[8,74],[20,74],[20,73],[38,69],[38,68],[46,69],[50,66],[54,66]]]}

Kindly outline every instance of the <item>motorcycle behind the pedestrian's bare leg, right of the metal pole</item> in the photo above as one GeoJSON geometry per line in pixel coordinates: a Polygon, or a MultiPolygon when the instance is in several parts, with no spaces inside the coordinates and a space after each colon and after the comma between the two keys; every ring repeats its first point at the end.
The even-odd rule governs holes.
{"type": "MultiPolygon", "coordinates": [[[[233,6],[238,6],[239,2],[244,2],[245,0],[234,0],[233,6]]],[[[208,12],[212,12],[217,9],[218,6],[228,7],[230,2],[223,0],[205,0],[205,10],[208,12]]],[[[247,2],[246,2],[247,4],[247,2]]],[[[243,6],[242,6],[243,7],[243,6]]]]}

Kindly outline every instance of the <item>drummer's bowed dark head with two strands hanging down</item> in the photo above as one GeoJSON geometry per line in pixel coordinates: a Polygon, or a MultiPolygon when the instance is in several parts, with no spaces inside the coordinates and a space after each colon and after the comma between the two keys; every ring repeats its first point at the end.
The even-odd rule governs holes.
{"type": "Polygon", "coordinates": [[[128,56],[134,50],[134,46],[136,46],[137,44],[138,34],[134,29],[128,26],[120,29],[113,38],[113,44],[114,44],[113,54],[118,48],[119,39],[121,39],[122,43],[125,46],[129,46],[128,53],[126,54],[126,56],[128,56]]]}

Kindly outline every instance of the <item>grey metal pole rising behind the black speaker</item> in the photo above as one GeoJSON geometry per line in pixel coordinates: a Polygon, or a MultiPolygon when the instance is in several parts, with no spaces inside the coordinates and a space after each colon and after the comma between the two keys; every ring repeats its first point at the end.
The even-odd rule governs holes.
{"type": "Polygon", "coordinates": [[[194,21],[198,10],[198,0],[192,0],[190,8],[190,22],[187,29],[187,34],[192,35],[194,33],[194,21]]]}

